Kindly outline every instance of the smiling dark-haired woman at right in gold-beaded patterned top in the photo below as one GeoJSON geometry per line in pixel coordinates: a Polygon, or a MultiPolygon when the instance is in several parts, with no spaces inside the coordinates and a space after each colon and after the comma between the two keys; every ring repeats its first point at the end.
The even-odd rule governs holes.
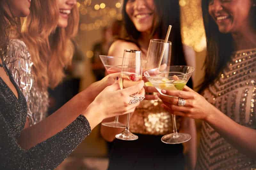
{"type": "Polygon", "coordinates": [[[208,51],[202,96],[188,87],[166,92],[184,98],[183,107],[160,98],[175,115],[204,121],[196,169],[254,169],[256,1],[202,2],[208,51]]]}

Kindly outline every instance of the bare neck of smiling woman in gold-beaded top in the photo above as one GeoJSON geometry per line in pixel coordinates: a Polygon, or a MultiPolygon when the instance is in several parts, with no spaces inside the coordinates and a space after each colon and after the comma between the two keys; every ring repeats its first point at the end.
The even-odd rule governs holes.
{"type": "Polygon", "coordinates": [[[253,27],[247,28],[243,32],[231,34],[234,39],[235,51],[256,48],[256,30],[253,27]]]}

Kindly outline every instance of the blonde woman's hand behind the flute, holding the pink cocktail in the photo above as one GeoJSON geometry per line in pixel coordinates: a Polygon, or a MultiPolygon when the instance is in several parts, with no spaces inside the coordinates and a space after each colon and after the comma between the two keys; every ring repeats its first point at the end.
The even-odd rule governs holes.
{"type": "Polygon", "coordinates": [[[102,80],[92,83],[86,90],[87,98],[90,96],[90,103],[96,98],[96,96],[107,86],[116,82],[116,77],[120,77],[120,73],[109,74],[102,80]]]}

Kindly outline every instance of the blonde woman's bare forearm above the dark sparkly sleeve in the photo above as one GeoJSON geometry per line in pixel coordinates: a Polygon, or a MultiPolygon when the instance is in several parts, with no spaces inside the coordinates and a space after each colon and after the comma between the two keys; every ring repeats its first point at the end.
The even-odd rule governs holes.
{"type": "Polygon", "coordinates": [[[18,139],[20,146],[24,149],[29,149],[54,136],[73,122],[89,105],[86,101],[84,101],[84,105],[81,105],[81,102],[77,102],[81,97],[79,95],[81,94],[76,95],[43,121],[24,129],[18,139]]]}

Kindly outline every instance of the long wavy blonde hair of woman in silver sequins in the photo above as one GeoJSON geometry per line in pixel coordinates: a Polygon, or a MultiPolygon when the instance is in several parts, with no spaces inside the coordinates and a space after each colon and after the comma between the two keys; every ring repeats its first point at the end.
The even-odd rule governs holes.
{"type": "Polygon", "coordinates": [[[63,68],[71,64],[78,30],[79,13],[73,7],[66,28],[58,27],[57,0],[31,1],[30,15],[22,26],[21,39],[28,46],[33,72],[40,88],[56,87],[64,77],[63,68]]]}

